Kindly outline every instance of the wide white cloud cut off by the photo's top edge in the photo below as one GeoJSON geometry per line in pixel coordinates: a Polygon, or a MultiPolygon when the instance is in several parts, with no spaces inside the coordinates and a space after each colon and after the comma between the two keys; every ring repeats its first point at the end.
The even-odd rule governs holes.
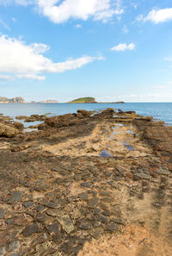
{"type": "Polygon", "coordinates": [[[66,22],[69,19],[86,21],[107,21],[114,15],[121,15],[121,0],[38,0],[39,12],[54,23],[66,22]]]}

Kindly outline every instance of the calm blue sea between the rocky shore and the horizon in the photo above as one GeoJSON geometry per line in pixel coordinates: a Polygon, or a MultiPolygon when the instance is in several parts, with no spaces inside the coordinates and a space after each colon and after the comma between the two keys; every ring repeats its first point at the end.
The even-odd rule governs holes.
{"type": "MultiPolygon", "coordinates": [[[[166,124],[172,125],[172,103],[38,103],[38,104],[0,104],[0,113],[4,116],[30,116],[32,114],[43,115],[51,113],[52,115],[64,115],[75,113],[77,109],[98,110],[98,109],[122,109],[134,110],[137,114],[143,116],[153,116],[157,120],[163,120],[166,124]]],[[[31,123],[29,123],[31,125],[31,123]]]]}

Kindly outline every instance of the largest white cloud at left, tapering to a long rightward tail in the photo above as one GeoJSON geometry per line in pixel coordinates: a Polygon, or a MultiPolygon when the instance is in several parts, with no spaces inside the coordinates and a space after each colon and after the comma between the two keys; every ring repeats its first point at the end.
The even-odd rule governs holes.
{"type": "Polygon", "coordinates": [[[42,73],[59,73],[80,68],[99,57],[83,56],[78,59],[67,59],[64,62],[52,62],[42,53],[49,49],[45,44],[25,44],[19,39],[0,36],[0,73],[13,74],[15,78],[34,78],[43,80],[42,73]]]}

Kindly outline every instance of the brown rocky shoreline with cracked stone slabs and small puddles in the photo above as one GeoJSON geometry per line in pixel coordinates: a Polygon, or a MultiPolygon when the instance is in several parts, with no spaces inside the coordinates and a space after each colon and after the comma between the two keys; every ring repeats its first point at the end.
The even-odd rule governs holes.
{"type": "Polygon", "coordinates": [[[172,127],[114,109],[22,118],[42,123],[0,119],[0,255],[172,255],[172,127]]]}

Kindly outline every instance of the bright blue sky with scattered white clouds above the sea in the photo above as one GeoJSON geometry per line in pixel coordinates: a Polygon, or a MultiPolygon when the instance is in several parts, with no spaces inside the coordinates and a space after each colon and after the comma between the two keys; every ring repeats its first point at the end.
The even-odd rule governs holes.
{"type": "Polygon", "coordinates": [[[172,102],[172,1],[0,0],[0,96],[172,102]]]}

